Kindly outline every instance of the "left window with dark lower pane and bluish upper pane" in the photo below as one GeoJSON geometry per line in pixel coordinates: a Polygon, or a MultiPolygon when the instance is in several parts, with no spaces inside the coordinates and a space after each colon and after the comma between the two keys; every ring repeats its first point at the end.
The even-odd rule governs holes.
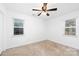
{"type": "Polygon", "coordinates": [[[14,35],[23,34],[23,20],[14,19],[14,35]]]}

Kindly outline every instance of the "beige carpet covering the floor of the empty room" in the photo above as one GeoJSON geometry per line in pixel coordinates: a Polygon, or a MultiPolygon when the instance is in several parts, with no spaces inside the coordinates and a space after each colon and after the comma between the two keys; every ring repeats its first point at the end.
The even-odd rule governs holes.
{"type": "Polygon", "coordinates": [[[78,56],[79,50],[49,40],[7,49],[2,56],[78,56]]]}

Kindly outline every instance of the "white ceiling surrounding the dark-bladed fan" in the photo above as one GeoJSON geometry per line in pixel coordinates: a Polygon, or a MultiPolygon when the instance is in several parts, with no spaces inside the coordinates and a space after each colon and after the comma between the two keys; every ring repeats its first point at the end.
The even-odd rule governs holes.
{"type": "Polygon", "coordinates": [[[23,13],[41,19],[52,19],[61,15],[79,10],[79,3],[48,3],[48,8],[57,8],[57,11],[49,12],[50,16],[36,16],[40,12],[33,12],[32,9],[41,9],[42,3],[4,3],[7,11],[23,13]]]}

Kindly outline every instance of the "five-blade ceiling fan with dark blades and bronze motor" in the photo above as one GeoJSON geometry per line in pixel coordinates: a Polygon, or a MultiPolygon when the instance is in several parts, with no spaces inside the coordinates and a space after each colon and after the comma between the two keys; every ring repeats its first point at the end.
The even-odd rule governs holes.
{"type": "Polygon", "coordinates": [[[48,11],[57,11],[57,8],[52,8],[52,9],[47,9],[47,4],[48,3],[43,3],[43,6],[41,8],[41,10],[39,9],[32,9],[33,11],[41,11],[38,16],[40,16],[42,14],[42,12],[45,12],[47,16],[49,16],[50,14],[48,13],[48,11]]]}

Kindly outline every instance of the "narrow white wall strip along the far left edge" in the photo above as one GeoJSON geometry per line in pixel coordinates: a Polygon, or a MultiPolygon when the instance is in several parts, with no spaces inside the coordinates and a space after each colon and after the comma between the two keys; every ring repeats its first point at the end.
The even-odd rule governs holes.
{"type": "Polygon", "coordinates": [[[3,4],[0,4],[0,53],[4,47],[4,19],[6,15],[6,9],[3,4]]]}

